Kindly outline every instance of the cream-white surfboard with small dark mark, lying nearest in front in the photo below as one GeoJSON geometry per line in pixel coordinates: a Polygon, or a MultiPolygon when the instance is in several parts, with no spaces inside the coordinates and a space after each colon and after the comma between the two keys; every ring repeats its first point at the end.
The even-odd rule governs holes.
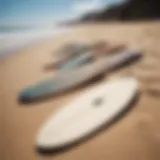
{"type": "Polygon", "coordinates": [[[43,124],[36,139],[37,150],[46,153],[82,140],[124,111],[137,90],[137,80],[131,77],[91,88],[43,124]]]}

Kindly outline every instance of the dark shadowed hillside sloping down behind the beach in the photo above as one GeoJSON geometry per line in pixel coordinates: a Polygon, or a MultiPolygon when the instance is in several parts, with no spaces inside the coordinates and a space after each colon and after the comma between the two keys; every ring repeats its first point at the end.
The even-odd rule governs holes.
{"type": "Polygon", "coordinates": [[[159,18],[159,0],[128,0],[98,13],[84,15],[81,21],[157,20],[159,18]]]}

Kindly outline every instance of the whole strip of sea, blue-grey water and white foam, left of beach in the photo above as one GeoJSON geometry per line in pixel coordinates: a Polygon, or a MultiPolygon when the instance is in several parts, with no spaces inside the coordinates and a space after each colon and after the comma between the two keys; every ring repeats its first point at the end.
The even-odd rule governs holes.
{"type": "Polygon", "coordinates": [[[67,27],[28,27],[0,25],[0,60],[68,31],[67,27]]]}

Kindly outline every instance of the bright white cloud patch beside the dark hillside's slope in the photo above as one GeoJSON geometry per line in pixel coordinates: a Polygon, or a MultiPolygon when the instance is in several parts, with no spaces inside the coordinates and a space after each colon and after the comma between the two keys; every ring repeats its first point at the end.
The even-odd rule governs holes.
{"type": "Polygon", "coordinates": [[[103,0],[83,0],[80,2],[76,2],[72,5],[72,10],[77,14],[84,14],[87,12],[98,11],[103,8],[104,3],[103,0]]]}

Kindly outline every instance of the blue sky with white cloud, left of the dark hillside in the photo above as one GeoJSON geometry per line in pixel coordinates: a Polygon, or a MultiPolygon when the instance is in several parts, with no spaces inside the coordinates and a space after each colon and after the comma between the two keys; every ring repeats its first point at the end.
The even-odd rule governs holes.
{"type": "Polygon", "coordinates": [[[53,24],[124,0],[0,0],[0,24],[53,24]]]}

